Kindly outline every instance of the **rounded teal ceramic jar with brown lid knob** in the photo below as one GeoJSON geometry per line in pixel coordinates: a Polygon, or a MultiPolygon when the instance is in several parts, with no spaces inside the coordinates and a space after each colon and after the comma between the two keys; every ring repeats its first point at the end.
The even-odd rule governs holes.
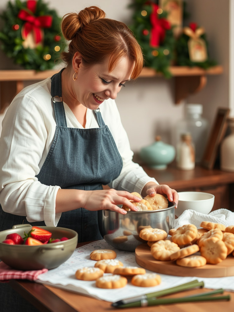
{"type": "Polygon", "coordinates": [[[155,142],[143,147],[139,156],[149,168],[163,170],[174,160],[175,148],[173,145],[163,143],[161,137],[156,136],[155,142]]]}

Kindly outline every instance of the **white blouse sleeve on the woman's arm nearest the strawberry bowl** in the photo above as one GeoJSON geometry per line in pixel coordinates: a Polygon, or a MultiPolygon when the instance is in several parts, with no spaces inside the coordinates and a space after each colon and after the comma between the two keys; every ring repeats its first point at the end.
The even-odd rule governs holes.
{"type": "MultiPolygon", "coordinates": [[[[41,103],[48,101],[41,95],[41,103]]],[[[51,127],[41,103],[32,95],[17,95],[2,122],[0,139],[0,203],[3,211],[26,216],[28,222],[56,226],[58,186],[41,184],[36,175],[51,127]],[[10,126],[9,126],[10,125],[10,126]]]]}

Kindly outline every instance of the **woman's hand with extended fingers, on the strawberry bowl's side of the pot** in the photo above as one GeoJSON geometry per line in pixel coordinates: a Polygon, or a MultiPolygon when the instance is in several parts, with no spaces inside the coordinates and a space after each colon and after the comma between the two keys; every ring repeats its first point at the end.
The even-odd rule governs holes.
{"type": "Polygon", "coordinates": [[[138,211],[130,200],[139,202],[141,199],[126,191],[116,191],[115,189],[109,190],[96,190],[84,192],[84,207],[87,210],[113,210],[122,214],[126,214],[126,210],[119,208],[117,205],[126,205],[133,211],[138,211]]]}

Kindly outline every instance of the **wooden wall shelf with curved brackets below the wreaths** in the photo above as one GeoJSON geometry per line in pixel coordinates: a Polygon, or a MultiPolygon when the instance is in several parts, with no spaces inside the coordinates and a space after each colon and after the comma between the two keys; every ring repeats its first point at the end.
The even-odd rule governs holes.
{"type": "MultiPolygon", "coordinates": [[[[222,66],[213,66],[207,70],[199,67],[171,66],[169,70],[175,79],[176,104],[179,104],[189,94],[202,90],[207,83],[207,75],[220,75],[223,72],[222,66]]],[[[58,71],[59,69],[41,72],[34,70],[0,70],[1,111],[23,89],[24,81],[44,80],[47,77],[53,76],[58,71]]],[[[161,73],[157,73],[154,69],[144,67],[139,77],[162,76],[161,73]]]]}

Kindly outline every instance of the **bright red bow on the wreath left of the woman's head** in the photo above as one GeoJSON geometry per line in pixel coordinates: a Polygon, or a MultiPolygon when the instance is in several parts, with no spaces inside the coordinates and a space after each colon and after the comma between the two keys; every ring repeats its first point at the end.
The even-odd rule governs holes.
{"type": "Polygon", "coordinates": [[[43,33],[41,28],[50,28],[52,25],[53,17],[51,15],[44,16],[34,16],[33,14],[36,11],[37,1],[28,0],[27,9],[22,9],[19,11],[18,17],[22,21],[26,21],[24,24],[24,29],[22,31],[23,36],[26,38],[29,32],[33,30],[35,36],[35,42],[41,42],[43,33]]]}

